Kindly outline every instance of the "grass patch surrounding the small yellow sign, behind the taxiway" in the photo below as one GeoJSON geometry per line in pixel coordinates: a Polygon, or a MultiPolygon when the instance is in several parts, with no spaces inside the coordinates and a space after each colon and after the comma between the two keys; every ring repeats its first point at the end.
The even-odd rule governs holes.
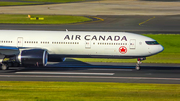
{"type": "Polygon", "coordinates": [[[16,14],[0,14],[0,23],[8,24],[70,24],[91,21],[84,16],[63,16],[63,15],[31,15],[34,17],[42,17],[44,20],[30,20],[28,15],[16,14]]]}

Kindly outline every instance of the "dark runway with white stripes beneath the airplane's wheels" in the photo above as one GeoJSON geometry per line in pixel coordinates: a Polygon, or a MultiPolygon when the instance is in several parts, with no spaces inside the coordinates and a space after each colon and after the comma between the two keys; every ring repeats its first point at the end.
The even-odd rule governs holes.
{"type": "Polygon", "coordinates": [[[14,67],[0,71],[0,81],[73,81],[180,84],[180,64],[49,63],[48,67],[14,67]],[[103,64],[103,65],[102,65],[103,64]]]}

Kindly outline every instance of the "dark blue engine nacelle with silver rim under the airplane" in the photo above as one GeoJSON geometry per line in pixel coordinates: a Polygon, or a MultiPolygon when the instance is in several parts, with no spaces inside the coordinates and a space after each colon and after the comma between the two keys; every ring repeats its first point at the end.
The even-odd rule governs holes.
{"type": "Polygon", "coordinates": [[[22,66],[46,66],[48,53],[43,49],[22,50],[17,59],[22,66]]]}

